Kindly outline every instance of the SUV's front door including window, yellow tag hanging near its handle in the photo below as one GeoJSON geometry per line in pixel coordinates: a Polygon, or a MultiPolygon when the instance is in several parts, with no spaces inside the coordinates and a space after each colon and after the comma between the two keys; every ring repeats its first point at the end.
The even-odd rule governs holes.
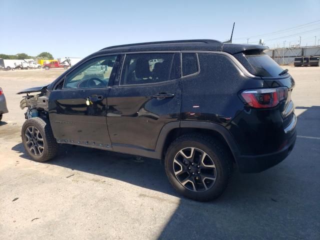
{"type": "MultiPolygon", "coordinates": [[[[117,55],[90,59],[73,69],[49,96],[49,118],[59,142],[111,147],[106,125],[108,83],[117,55]]],[[[117,64],[116,64],[117,65],[117,64]]]]}

